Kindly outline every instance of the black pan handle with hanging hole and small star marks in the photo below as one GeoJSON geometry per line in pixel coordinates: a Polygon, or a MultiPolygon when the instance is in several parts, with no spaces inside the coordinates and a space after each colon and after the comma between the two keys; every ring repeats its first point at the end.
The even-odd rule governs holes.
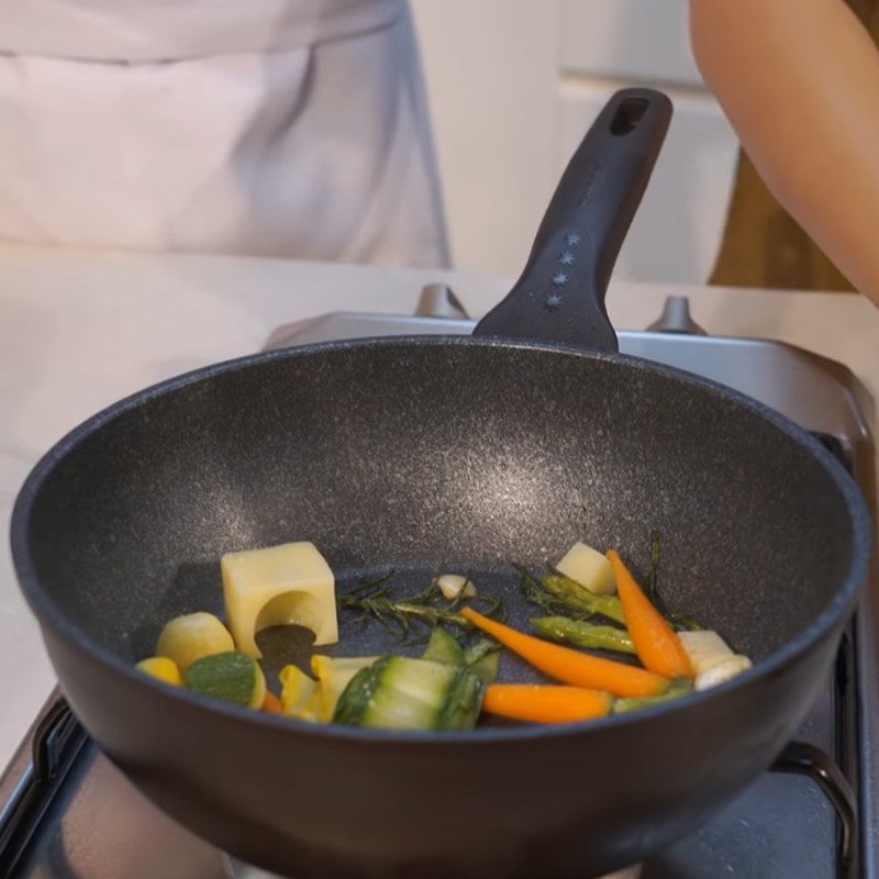
{"type": "Polygon", "coordinates": [[[670,119],[671,101],[652,89],[608,101],[561,176],[522,277],[474,335],[617,351],[604,294],[670,119]]]}

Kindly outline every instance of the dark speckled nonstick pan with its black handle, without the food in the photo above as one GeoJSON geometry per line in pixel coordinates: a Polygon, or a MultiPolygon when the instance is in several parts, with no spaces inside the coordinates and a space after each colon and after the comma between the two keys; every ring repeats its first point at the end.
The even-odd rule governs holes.
{"type": "MultiPolygon", "coordinates": [[[[62,688],[182,824],[293,877],[580,879],[693,830],[781,750],[865,580],[870,523],[798,427],[615,353],[604,290],[669,116],[656,92],[611,99],[474,337],[201,369],[94,416],[33,470],[13,554],[62,688]],[[343,591],[389,568],[413,583],[469,570],[526,626],[511,563],[580,538],[643,574],[654,530],[666,600],[756,666],[641,713],[375,733],[238,710],[132,668],[176,613],[222,611],[230,550],[312,539],[343,591]]],[[[341,654],[394,647],[380,628],[348,637],[345,619],[341,654]]]]}

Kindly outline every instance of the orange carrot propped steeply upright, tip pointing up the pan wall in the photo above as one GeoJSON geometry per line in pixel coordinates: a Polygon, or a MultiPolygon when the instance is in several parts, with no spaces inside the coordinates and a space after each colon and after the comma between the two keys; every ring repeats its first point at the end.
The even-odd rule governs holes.
{"type": "Polygon", "coordinates": [[[611,549],[608,559],[613,567],[625,625],[632,635],[638,659],[650,671],[665,675],[667,678],[694,677],[692,664],[680,643],[678,633],[644,594],[620,558],[620,554],[611,549]]]}

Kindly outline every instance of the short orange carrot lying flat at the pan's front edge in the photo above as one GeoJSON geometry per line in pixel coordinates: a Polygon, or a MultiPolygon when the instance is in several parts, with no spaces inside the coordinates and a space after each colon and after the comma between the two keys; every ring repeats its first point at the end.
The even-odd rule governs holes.
{"type": "Polygon", "coordinates": [[[533,723],[574,723],[607,717],[613,699],[603,690],[539,683],[492,683],[482,711],[533,723]]]}

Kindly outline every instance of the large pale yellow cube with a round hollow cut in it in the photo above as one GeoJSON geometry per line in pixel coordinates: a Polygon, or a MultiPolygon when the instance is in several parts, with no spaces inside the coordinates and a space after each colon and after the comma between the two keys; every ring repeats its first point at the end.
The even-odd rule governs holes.
{"type": "Polygon", "coordinates": [[[226,619],[242,653],[262,657],[256,633],[301,625],[321,647],[338,641],[335,578],[313,543],[227,553],[221,559],[226,619]]]}

